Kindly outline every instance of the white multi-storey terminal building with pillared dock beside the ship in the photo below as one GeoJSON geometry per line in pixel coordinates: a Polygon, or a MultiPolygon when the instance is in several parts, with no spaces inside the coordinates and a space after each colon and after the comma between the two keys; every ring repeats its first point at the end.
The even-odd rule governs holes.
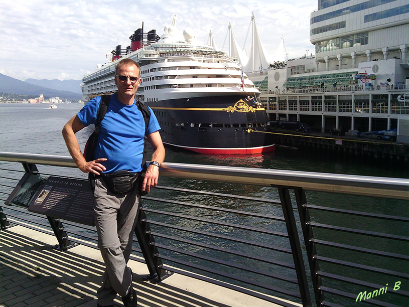
{"type": "Polygon", "coordinates": [[[397,129],[397,141],[409,142],[407,0],[319,0],[310,41],[315,55],[246,71],[270,119],[351,135],[397,129]]]}

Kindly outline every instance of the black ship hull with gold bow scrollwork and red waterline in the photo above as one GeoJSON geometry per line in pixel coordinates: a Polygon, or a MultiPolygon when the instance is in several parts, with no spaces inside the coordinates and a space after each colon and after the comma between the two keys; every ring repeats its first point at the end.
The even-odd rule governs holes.
{"type": "MultiPolygon", "coordinates": [[[[244,93],[243,93],[244,94],[244,93]]],[[[259,154],[275,150],[264,108],[244,95],[149,102],[164,144],[201,154],[259,154]]]]}

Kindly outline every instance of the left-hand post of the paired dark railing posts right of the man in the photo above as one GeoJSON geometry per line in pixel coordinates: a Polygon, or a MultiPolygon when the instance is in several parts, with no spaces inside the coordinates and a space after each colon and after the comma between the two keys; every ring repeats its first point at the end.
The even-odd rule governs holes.
{"type": "Polygon", "coordinates": [[[297,272],[298,285],[300,287],[301,301],[303,307],[311,307],[311,296],[308,287],[307,273],[303,260],[303,253],[301,250],[300,239],[298,237],[296,219],[294,217],[293,206],[289,189],[286,187],[278,187],[281,205],[283,207],[283,214],[286,221],[287,233],[290,240],[291,251],[293,254],[294,265],[297,272]]]}

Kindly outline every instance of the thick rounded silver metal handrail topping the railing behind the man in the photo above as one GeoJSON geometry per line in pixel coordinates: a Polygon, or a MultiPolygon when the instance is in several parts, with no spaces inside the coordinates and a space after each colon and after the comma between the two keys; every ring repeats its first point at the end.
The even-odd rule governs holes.
{"type": "MultiPolygon", "coordinates": [[[[0,152],[0,161],[76,168],[71,157],[0,152]]],[[[409,200],[409,181],[400,178],[163,163],[161,176],[409,200]],[[215,174],[217,173],[217,176],[215,174]]]]}

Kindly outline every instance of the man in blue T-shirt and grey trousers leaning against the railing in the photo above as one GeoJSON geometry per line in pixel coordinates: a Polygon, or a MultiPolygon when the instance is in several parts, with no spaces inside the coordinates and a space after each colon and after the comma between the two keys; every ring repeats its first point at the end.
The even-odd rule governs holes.
{"type": "MultiPolygon", "coordinates": [[[[134,307],[137,305],[137,294],[132,288],[132,272],[126,263],[139,210],[138,188],[112,193],[106,184],[105,174],[117,171],[138,173],[142,170],[145,121],[135,101],[135,92],[141,84],[141,69],[133,60],[123,59],[116,65],[115,74],[118,91],[111,95],[106,115],[100,124],[95,160],[87,162],[84,159],[75,133],[95,123],[101,97],[90,100],[65,124],[62,132],[78,168],[84,173],[101,174],[95,180],[94,211],[98,247],[106,269],[103,284],[97,292],[97,306],[113,307],[118,293],[125,307],[134,307]]],[[[142,186],[147,192],[157,185],[159,166],[165,159],[160,126],[152,110],[149,110],[151,117],[147,138],[154,151],[142,186]]]]}

